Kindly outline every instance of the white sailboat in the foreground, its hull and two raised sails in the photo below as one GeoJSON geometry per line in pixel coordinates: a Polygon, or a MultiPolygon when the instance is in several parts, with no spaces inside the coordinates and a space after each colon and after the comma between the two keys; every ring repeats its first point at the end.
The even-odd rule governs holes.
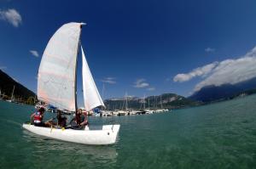
{"type": "MultiPolygon", "coordinates": [[[[62,110],[76,112],[77,105],[77,62],[79,48],[82,54],[82,77],[84,108],[89,111],[105,106],[90,73],[80,43],[84,23],[62,25],[50,38],[38,70],[38,100],[62,110]]],[[[78,144],[114,144],[119,133],[119,124],[103,125],[100,130],[85,127],[83,130],[72,128],[23,127],[38,135],[78,144]]]]}

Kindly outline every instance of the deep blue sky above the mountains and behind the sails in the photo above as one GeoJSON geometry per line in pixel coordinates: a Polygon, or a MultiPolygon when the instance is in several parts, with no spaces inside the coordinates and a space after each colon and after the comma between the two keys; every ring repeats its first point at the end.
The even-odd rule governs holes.
{"type": "MultiPolygon", "coordinates": [[[[225,60],[254,48],[255,7],[253,0],[3,0],[0,68],[36,92],[49,38],[61,25],[83,21],[82,45],[100,93],[106,81],[104,99],[125,92],[188,96],[225,60]]],[[[80,77],[78,83],[81,90],[80,77]]]]}

